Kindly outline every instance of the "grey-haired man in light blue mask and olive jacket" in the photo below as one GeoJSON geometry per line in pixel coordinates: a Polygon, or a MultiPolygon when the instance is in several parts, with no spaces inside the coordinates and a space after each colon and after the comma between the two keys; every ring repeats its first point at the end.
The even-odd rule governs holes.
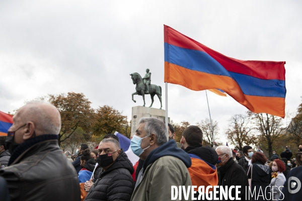
{"type": "MultiPolygon", "coordinates": [[[[172,186],[187,189],[192,185],[187,169],[191,166],[191,158],[177,148],[174,140],[168,142],[168,130],[163,121],[141,118],[130,147],[144,161],[131,200],[171,200],[172,186]]],[[[190,192],[187,200],[191,200],[190,192]]],[[[183,191],[181,193],[184,197],[183,191]]]]}

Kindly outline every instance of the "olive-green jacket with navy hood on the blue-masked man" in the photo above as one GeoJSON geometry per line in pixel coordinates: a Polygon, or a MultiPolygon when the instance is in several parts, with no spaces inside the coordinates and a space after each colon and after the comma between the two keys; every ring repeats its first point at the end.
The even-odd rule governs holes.
{"type": "MultiPolygon", "coordinates": [[[[172,185],[184,185],[186,189],[192,185],[187,169],[190,166],[190,156],[174,140],[154,149],[142,165],[131,200],[171,200],[172,185]]],[[[182,199],[186,199],[183,192],[182,199]]],[[[191,192],[186,200],[191,200],[191,192]]]]}

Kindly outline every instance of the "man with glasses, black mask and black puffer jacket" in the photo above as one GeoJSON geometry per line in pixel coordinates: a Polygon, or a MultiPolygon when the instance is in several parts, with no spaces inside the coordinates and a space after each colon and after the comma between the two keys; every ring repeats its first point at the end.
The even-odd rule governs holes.
{"type": "Polygon", "coordinates": [[[90,188],[85,200],[130,200],[134,181],[133,165],[120,149],[117,140],[109,138],[99,145],[97,162],[103,168],[100,177],[90,188]]]}

